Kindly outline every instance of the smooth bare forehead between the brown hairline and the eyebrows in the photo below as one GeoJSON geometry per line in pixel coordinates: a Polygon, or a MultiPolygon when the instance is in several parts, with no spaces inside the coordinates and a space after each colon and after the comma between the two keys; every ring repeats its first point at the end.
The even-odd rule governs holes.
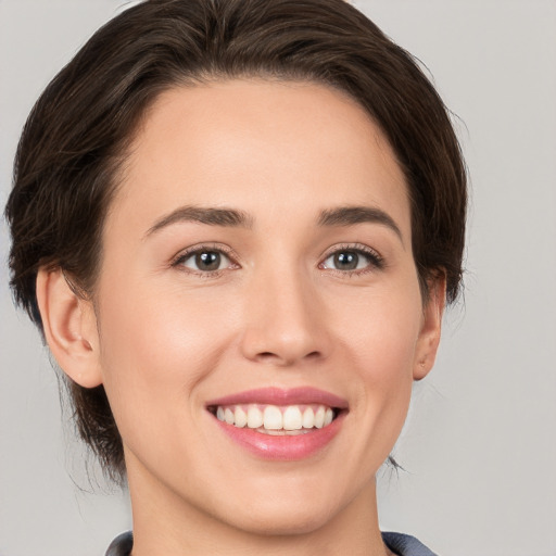
{"type": "Polygon", "coordinates": [[[147,229],[157,215],[197,204],[239,207],[255,223],[263,213],[291,220],[371,204],[395,213],[403,232],[409,222],[405,179],[383,134],[345,93],[312,83],[218,81],[156,99],[108,225],[127,218],[147,229]]]}

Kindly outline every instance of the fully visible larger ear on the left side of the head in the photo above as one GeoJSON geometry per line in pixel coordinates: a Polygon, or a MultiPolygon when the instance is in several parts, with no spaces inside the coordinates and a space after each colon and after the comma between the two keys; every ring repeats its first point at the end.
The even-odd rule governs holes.
{"type": "Polygon", "coordinates": [[[38,271],[37,301],[45,338],[62,370],[84,388],[101,384],[92,303],[75,293],[60,268],[38,271]]]}

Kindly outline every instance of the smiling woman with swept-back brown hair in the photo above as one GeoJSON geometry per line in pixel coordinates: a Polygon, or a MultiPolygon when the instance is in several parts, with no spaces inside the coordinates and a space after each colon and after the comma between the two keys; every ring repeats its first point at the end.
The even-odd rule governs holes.
{"type": "Polygon", "coordinates": [[[375,475],[460,280],[437,92],[341,0],[162,0],[39,99],[12,285],[128,481],[111,555],[431,554],[375,475]]]}

